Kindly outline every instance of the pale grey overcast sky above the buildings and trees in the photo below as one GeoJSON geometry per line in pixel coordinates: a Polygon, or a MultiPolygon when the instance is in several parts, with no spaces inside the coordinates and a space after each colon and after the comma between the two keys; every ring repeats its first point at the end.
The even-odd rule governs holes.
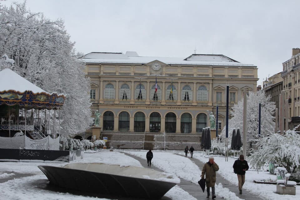
{"type": "Polygon", "coordinates": [[[256,65],[258,85],[300,47],[299,0],[27,0],[27,7],[62,18],[78,52],[186,58],[196,47],[256,65]]]}

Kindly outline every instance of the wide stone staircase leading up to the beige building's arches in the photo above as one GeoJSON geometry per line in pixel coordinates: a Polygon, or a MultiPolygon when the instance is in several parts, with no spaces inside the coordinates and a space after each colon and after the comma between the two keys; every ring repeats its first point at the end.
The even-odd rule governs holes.
{"type": "Polygon", "coordinates": [[[183,151],[186,146],[193,146],[201,150],[201,134],[103,132],[102,137],[108,138],[108,148],[183,151]]]}

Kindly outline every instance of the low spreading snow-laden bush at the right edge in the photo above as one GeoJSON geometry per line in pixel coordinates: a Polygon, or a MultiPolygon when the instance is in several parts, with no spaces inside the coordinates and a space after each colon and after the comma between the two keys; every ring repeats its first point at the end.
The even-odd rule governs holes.
{"type": "Polygon", "coordinates": [[[300,167],[300,135],[295,131],[261,138],[257,145],[258,150],[249,157],[253,167],[260,169],[265,163],[275,162],[289,173],[300,167]]]}

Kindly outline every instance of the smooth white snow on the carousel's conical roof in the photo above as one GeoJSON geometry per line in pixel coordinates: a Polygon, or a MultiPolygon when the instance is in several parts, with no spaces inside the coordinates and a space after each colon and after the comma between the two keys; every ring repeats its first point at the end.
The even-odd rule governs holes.
{"type": "Polygon", "coordinates": [[[0,71],[0,91],[5,90],[15,90],[21,93],[26,90],[33,93],[47,93],[8,68],[0,71]]]}

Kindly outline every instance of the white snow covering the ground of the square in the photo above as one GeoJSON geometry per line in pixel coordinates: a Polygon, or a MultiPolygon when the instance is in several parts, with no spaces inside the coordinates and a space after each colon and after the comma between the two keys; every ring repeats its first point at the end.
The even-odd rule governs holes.
{"type": "MultiPolygon", "coordinates": [[[[140,158],[146,157],[146,151],[142,150],[127,150],[124,151],[140,158]]],[[[179,178],[190,180],[192,183],[197,184],[199,180],[201,169],[197,167],[189,158],[185,158],[176,153],[183,154],[176,151],[154,151],[153,165],[162,169],[167,173],[173,173],[179,178]]],[[[194,153],[194,158],[203,162],[207,162],[207,158],[202,157],[202,153],[194,153]]],[[[232,164],[235,159],[229,158],[225,162],[223,157],[215,157],[216,163],[219,165],[220,173],[224,178],[233,184],[237,185],[236,174],[232,173],[232,164]]],[[[104,150],[98,153],[85,153],[82,163],[105,163],[105,164],[119,164],[122,166],[139,166],[141,163],[137,160],[120,152],[109,152],[104,150]]],[[[146,162],[146,159],[145,159],[146,162]]],[[[26,162],[1,162],[0,163],[0,179],[12,177],[13,173],[31,173],[35,174],[30,177],[17,178],[4,183],[0,183],[0,199],[94,199],[95,197],[82,196],[71,194],[67,192],[57,192],[55,190],[47,189],[48,181],[46,176],[37,168],[38,165],[53,165],[63,166],[62,163],[26,163],[26,162]]],[[[294,200],[300,199],[300,186],[296,186],[296,196],[291,195],[278,195],[276,185],[257,184],[253,180],[273,179],[276,176],[268,172],[262,171],[257,174],[256,171],[247,171],[246,183],[243,188],[250,190],[264,199],[272,200],[294,200]]],[[[216,194],[224,199],[240,199],[235,193],[230,192],[227,188],[222,187],[222,184],[216,185],[216,194]]],[[[173,200],[195,200],[190,194],[178,186],[173,187],[166,193],[167,197],[173,200]]],[[[105,200],[105,198],[98,198],[105,200]]]]}

